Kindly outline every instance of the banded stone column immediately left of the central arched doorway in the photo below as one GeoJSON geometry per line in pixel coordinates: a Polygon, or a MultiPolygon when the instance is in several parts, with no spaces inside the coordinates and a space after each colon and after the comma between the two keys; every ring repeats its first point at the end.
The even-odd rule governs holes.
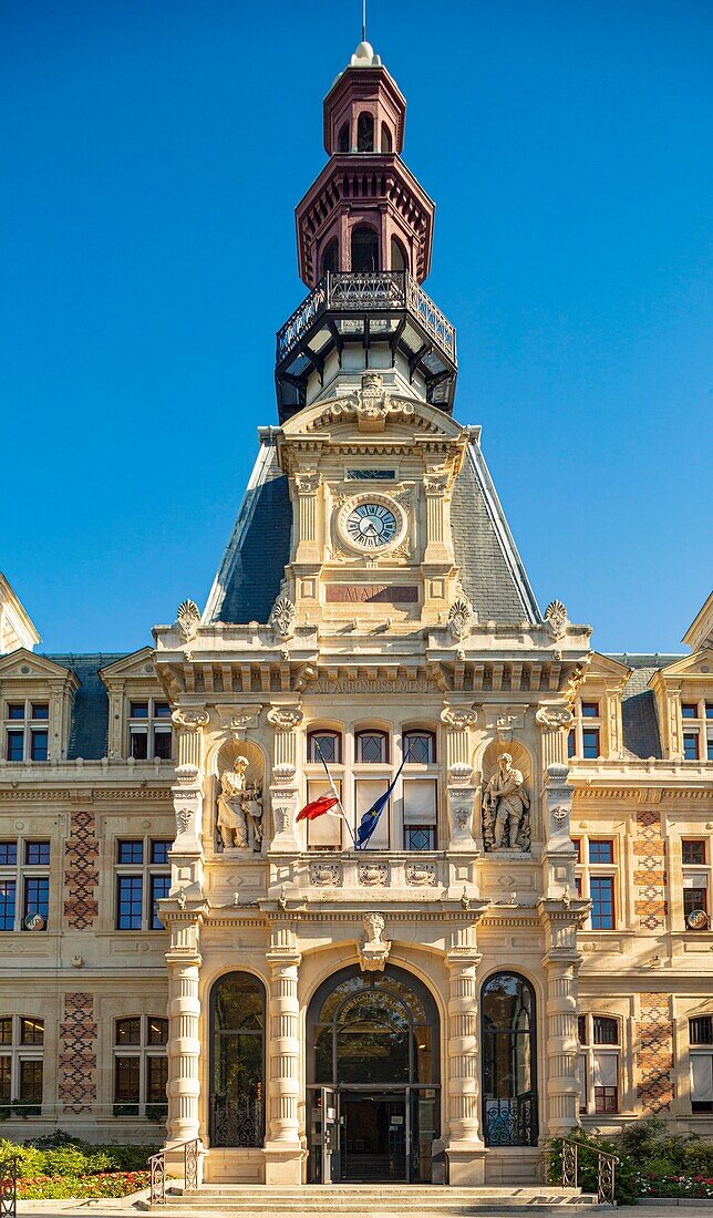
{"type": "Polygon", "coordinates": [[[273,931],[267,961],[271,968],[269,1002],[269,1136],[264,1144],[264,1183],[300,1184],[302,1145],[300,1097],[300,1004],[297,982],[301,955],[288,926],[273,931]]]}

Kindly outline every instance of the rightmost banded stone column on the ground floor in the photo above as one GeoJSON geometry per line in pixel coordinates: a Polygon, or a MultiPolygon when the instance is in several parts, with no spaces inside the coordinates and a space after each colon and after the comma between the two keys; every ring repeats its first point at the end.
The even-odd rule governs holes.
{"type": "Polygon", "coordinates": [[[576,1075],[576,989],[581,956],[576,950],[576,927],[586,901],[576,903],[583,910],[569,909],[564,903],[542,900],[547,951],[546,1040],[546,1133],[547,1138],[566,1138],[579,1124],[579,1079],[576,1075]]]}

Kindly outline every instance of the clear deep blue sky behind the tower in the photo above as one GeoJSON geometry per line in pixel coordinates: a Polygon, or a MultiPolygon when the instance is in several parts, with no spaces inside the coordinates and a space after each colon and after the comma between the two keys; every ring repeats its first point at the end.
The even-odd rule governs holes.
{"type": "MultiPolygon", "coordinates": [[[[205,602],[305,295],[360,0],[0,0],[0,570],[44,650],[205,602]]],[[[369,0],[436,200],[456,415],[542,607],[676,650],[711,588],[707,0],[369,0]]]]}

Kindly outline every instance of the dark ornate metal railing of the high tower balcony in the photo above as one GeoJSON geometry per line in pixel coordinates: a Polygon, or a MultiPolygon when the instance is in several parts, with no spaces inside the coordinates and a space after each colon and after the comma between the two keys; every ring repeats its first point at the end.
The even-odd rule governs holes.
{"type": "Polygon", "coordinates": [[[330,270],[278,330],[277,359],[299,346],[312,323],[327,312],[407,309],[441,351],[456,361],[456,329],[406,270],[330,270]]]}

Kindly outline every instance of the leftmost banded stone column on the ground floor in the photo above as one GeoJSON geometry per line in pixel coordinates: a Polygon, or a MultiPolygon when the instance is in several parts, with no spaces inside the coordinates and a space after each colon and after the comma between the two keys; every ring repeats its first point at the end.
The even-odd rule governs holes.
{"type": "MultiPolygon", "coordinates": [[[[205,907],[201,907],[190,912],[177,911],[169,916],[171,948],[166,952],[169,1021],[168,1151],[182,1142],[201,1139],[199,934],[204,914],[205,907]]],[[[182,1152],[176,1152],[173,1166],[182,1170],[182,1152]]]]}

